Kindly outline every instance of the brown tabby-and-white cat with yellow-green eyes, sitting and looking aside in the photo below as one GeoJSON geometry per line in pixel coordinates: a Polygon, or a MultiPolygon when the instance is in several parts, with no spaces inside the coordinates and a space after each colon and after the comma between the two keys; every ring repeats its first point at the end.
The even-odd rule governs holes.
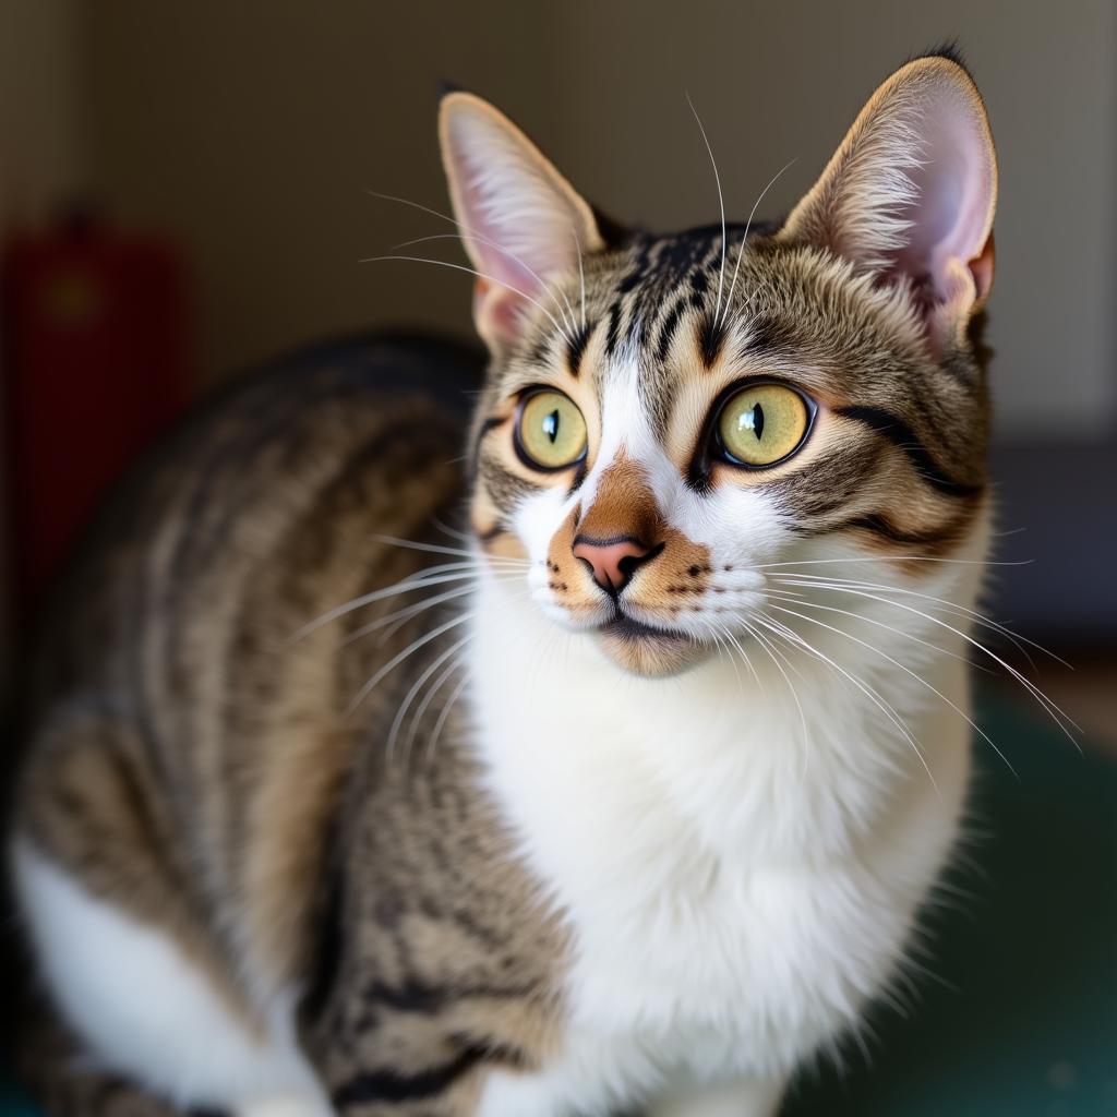
{"type": "Polygon", "coordinates": [[[55,612],[11,863],[56,1113],[771,1115],[955,843],[966,69],[895,71],[775,225],[626,229],[471,93],[439,134],[484,379],[373,340],[232,390],[55,612]]]}

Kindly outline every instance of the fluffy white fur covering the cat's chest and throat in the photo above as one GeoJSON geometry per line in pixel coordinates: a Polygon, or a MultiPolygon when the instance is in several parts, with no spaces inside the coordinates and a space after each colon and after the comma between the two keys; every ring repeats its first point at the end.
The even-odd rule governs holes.
{"type": "MultiPolygon", "coordinates": [[[[639,679],[499,588],[481,596],[478,747],[574,939],[547,1089],[589,1109],[680,1073],[785,1076],[890,976],[956,831],[965,719],[879,651],[851,663],[843,646],[928,775],[820,661],[789,680],[754,649],[755,676],[720,658],[639,679]]],[[[877,639],[910,661],[910,639],[896,642],[877,639]]],[[[966,708],[961,659],[917,674],[966,708]]]]}

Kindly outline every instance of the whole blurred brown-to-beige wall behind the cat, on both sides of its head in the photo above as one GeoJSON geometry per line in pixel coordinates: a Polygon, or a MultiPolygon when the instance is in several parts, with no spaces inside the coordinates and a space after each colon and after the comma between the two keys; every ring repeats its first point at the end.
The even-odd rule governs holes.
{"type": "MultiPolygon", "coordinates": [[[[694,98],[731,214],[804,191],[873,85],[957,35],[1001,159],[992,341],[1002,435],[1117,424],[1117,6],[1111,0],[80,6],[89,178],[170,228],[198,271],[200,361],[223,373],[375,323],[466,328],[468,280],[369,264],[446,206],[436,84],[491,97],[623,218],[716,217],[694,98]]],[[[411,249],[460,262],[448,241],[411,249]]]]}

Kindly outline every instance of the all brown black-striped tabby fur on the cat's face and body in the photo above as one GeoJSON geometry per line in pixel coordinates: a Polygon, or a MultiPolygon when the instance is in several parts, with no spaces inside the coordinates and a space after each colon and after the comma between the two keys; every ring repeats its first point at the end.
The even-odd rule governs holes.
{"type": "MultiPolygon", "coordinates": [[[[264,376],[117,500],[45,645],[19,831],[95,895],[171,934],[249,1023],[248,989],[300,989],[303,1040],[342,1115],[468,1115],[487,1068],[537,1065],[561,1027],[564,929],[477,779],[458,707],[428,752],[452,688],[411,748],[407,732],[384,747],[401,699],[456,630],[352,714],[365,680],[441,614],[351,642],[400,608],[386,598],[293,639],[429,566],[428,554],[378,536],[445,544],[432,524],[466,497],[483,546],[522,554],[507,531],[518,499],[580,481],[541,480],[516,459],[517,391],[561,388],[592,447],[608,378],[599,370],[627,346],[684,476],[767,486],[795,529],[848,534],[870,551],[948,552],[984,502],[975,337],[960,334],[932,359],[908,293],[857,276],[802,230],[761,226],[725,319],[743,327],[728,331],[714,318],[719,228],[653,237],[599,226],[584,328],[571,344],[536,316],[497,354],[468,439],[460,395],[422,386],[432,369],[471,382],[474,363],[455,353],[380,343],[363,356],[366,375],[327,363],[264,376]],[[792,370],[839,417],[831,433],[763,474],[703,474],[710,401],[742,375],[792,370]],[[469,491],[455,464],[462,442],[469,491]]],[[[744,237],[729,226],[731,267],[744,237]]],[[[579,277],[567,279],[576,305],[579,277]]],[[[611,474],[595,529],[610,534],[614,516],[632,534],[653,503],[623,462],[611,474]]],[[[561,545],[580,515],[547,560],[573,608],[592,593],[561,545]]],[[[647,585],[667,620],[710,573],[705,548],[675,544],[647,585]]],[[[63,1060],[47,1048],[30,1073],[51,1082],[42,1096],[58,1117],[165,1114],[86,1072],[60,1100],[63,1060]]]]}

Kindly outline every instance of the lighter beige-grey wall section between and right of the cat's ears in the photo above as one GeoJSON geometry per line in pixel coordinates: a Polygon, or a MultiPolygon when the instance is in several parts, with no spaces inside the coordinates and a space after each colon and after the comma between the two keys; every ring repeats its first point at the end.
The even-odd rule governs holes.
{"type": "Polygon", "coordinates": [[[565,3],[576,58],[560,141],[602,204],[652,226],[708,222],[716,195],[682,90],[701,113],[727,204],[775,214],[808,189],[873,84],[957,35],[1001,168],[999,429],[1117,433],[1117,3],[857,0],[565,3]]]}

